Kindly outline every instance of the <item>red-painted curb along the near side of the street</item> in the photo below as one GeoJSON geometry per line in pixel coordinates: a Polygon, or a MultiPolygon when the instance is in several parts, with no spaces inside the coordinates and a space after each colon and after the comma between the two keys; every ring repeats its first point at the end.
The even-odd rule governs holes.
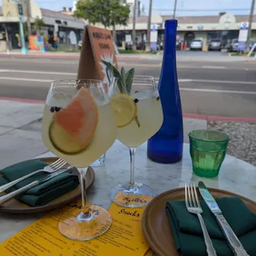
{"type": "MultiPolygon", "coordinates": [[[[45,104],[45,101],[42,101],[42,100],[32,100],[32,99],[18,98],[18,97],[0,97],[0,101],[45,104]]],[[[206,121],[233,121],[233,122],[256,123],[256,118],[253,118],[253,117],[251,118],[251,117],[237,117],[237,116],[207,116],[207,115],[197,115],[197,114],[190,114],[190,113],[184,113],[183,117],[206,120],[206,121]]]]}

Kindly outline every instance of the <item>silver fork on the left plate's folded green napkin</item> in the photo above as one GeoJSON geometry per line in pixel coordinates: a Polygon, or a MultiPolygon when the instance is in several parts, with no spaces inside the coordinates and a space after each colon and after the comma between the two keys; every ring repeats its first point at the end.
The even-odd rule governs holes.
{"type": "Polygon", "coordinates": [[[26,176],[23,176],[21,178],[17,178],[16,180],[12,181],[11,183],[2,185],[0,187],[0,193],[6,191],[9,187],[12,187],[12,186],[16,185],[17,183],[20,183],[21,181],[25,180],[26,178],[29,178],[29,177],[35,175],[36,173],[42,173],[42,172],[54,173],[55,171],[58,171],[60,168],[63,168],[65,164],[67,164],[66,161],[64,161],[63,159],[58,159],[54,163],[45,166],[45,168],[43,168],[43,169],[37,170],[36,172],[33,172],[33,173],[29,173],[26,176]]]}

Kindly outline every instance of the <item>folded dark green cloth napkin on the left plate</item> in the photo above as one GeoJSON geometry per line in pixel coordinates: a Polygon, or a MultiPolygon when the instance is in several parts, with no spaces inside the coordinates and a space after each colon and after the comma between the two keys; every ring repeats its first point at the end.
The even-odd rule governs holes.
{"type": "MultiPolygon", "coordinates": [[[[17,178],[21,178],[26,174],[33,173],[36,170],[42,169],[46,166],[44,162],[33,159],[26,162],[21,162],[18,164],[13,164],[7,168],[0,171],[3,175],[0,177],[0,186],[17,178]]],[[[21,183],[10,187],[7,192],[12,192],[18,188],[24,187],[29,183],[36,181],[39,178],[45,178],[49,173],[38,173],[30,178],[26,178],[21,183]]],[[[60,197],[64,193],[67,193],[74,188],[78,187],[79,180],[78,177],[69,173],[62,173],[55,178],[51,178],[49,181],[42,183],[36,187],[32,187],[27,192],[21,194],[17,197],[19,201],[26,203],[29,206],[43,206],[47,202],[60,197]]]]}

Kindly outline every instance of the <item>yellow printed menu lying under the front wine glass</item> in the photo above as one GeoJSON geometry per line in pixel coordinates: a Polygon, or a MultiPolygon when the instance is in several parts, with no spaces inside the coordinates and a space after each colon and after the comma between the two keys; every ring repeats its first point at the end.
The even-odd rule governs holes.
{"type": "Polygon", "coordinates": [[[145,207],[125,208],[113,203],[109,209],[113,218],[111,228],[96,239],[82,242],[66,239],[58,230],[61,216],[72,214],[78,206],[78,202],[69,203],[36,220],[0,244],[0,255],[143,256],[147,253],[149,245],[141,229],[145,207]]]}

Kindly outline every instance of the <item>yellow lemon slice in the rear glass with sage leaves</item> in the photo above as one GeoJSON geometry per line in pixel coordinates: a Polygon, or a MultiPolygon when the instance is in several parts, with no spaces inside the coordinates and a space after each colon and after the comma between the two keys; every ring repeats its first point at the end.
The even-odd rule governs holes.
{"type": "Polygon", "coordinates": [[[111,107],[115,114],[116,126],[128,126],[137,116],[137,105],[127,94],[120,93],[111,97],[111,107]]]}

